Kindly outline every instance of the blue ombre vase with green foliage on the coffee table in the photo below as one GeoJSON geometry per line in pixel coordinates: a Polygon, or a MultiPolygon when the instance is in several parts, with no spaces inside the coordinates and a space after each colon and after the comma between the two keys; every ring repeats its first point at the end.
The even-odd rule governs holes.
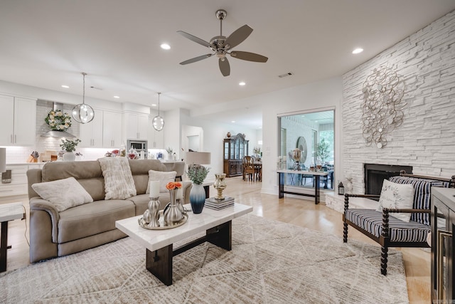
{"type": "Polygon", "coordinates": [[[188,165],[188,178],[193,182],[193,187],[190,191],[190,203],[193,213],[200,214],[205,204],[205,190],[202,186],[205,177],[207,177],[210,168],[205,168],[200,164],[188,165]]]}

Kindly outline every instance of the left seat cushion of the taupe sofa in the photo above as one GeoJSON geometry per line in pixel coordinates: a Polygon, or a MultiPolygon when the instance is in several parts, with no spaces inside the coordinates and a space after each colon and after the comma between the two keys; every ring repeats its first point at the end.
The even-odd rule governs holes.
{"type": "Polygon", "coordinates": [[[60,212],[58,243],[65,243],[115,229],[115,221],[135,216],[126,200],[102,200],[60,212]]]}

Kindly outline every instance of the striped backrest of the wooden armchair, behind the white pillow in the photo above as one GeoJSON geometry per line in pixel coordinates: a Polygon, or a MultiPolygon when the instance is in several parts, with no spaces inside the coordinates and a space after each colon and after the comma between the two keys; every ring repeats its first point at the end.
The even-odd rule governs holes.
{"type": "MultiPolygon", "coordinates": [[[[412,184],[414,186],[414,209],[431,208],[432,187],[449,187],[449,182],[439,182],[432,179],[419,179],[415,177],[390,177],[390,182],[397,184],[412,184]]],[[[417,221],[420,224],[429,225],[429,214],[414,213],[411,215],[411,221],[417,221]]]]}

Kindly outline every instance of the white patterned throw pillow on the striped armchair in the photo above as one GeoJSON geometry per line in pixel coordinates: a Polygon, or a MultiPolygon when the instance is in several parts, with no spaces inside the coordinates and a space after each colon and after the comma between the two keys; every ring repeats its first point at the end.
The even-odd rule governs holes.
{"type": "MultiPolygon", "coordinates": [[[[412,209],[414,201],[414,187],[412,184],[395,184],[387,179],[384,179],[382,184],[381,195],[379,198],[379,206],[377,211],[382,211],[382,208],[390,209],[412,209]]],[[[410,221],[410,213],[390,213],[391,216],[401,219],[402,221],[410,221]]]]}

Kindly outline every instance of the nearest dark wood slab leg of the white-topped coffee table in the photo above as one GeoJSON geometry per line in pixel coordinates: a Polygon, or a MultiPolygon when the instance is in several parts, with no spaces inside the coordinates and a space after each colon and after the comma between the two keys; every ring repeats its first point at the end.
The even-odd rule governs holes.
{"type": "Polygon", "coordinates": [[[172,285],[172,244],[156,251],[146,249],[146,268],[165,285],[172,285]]]}

